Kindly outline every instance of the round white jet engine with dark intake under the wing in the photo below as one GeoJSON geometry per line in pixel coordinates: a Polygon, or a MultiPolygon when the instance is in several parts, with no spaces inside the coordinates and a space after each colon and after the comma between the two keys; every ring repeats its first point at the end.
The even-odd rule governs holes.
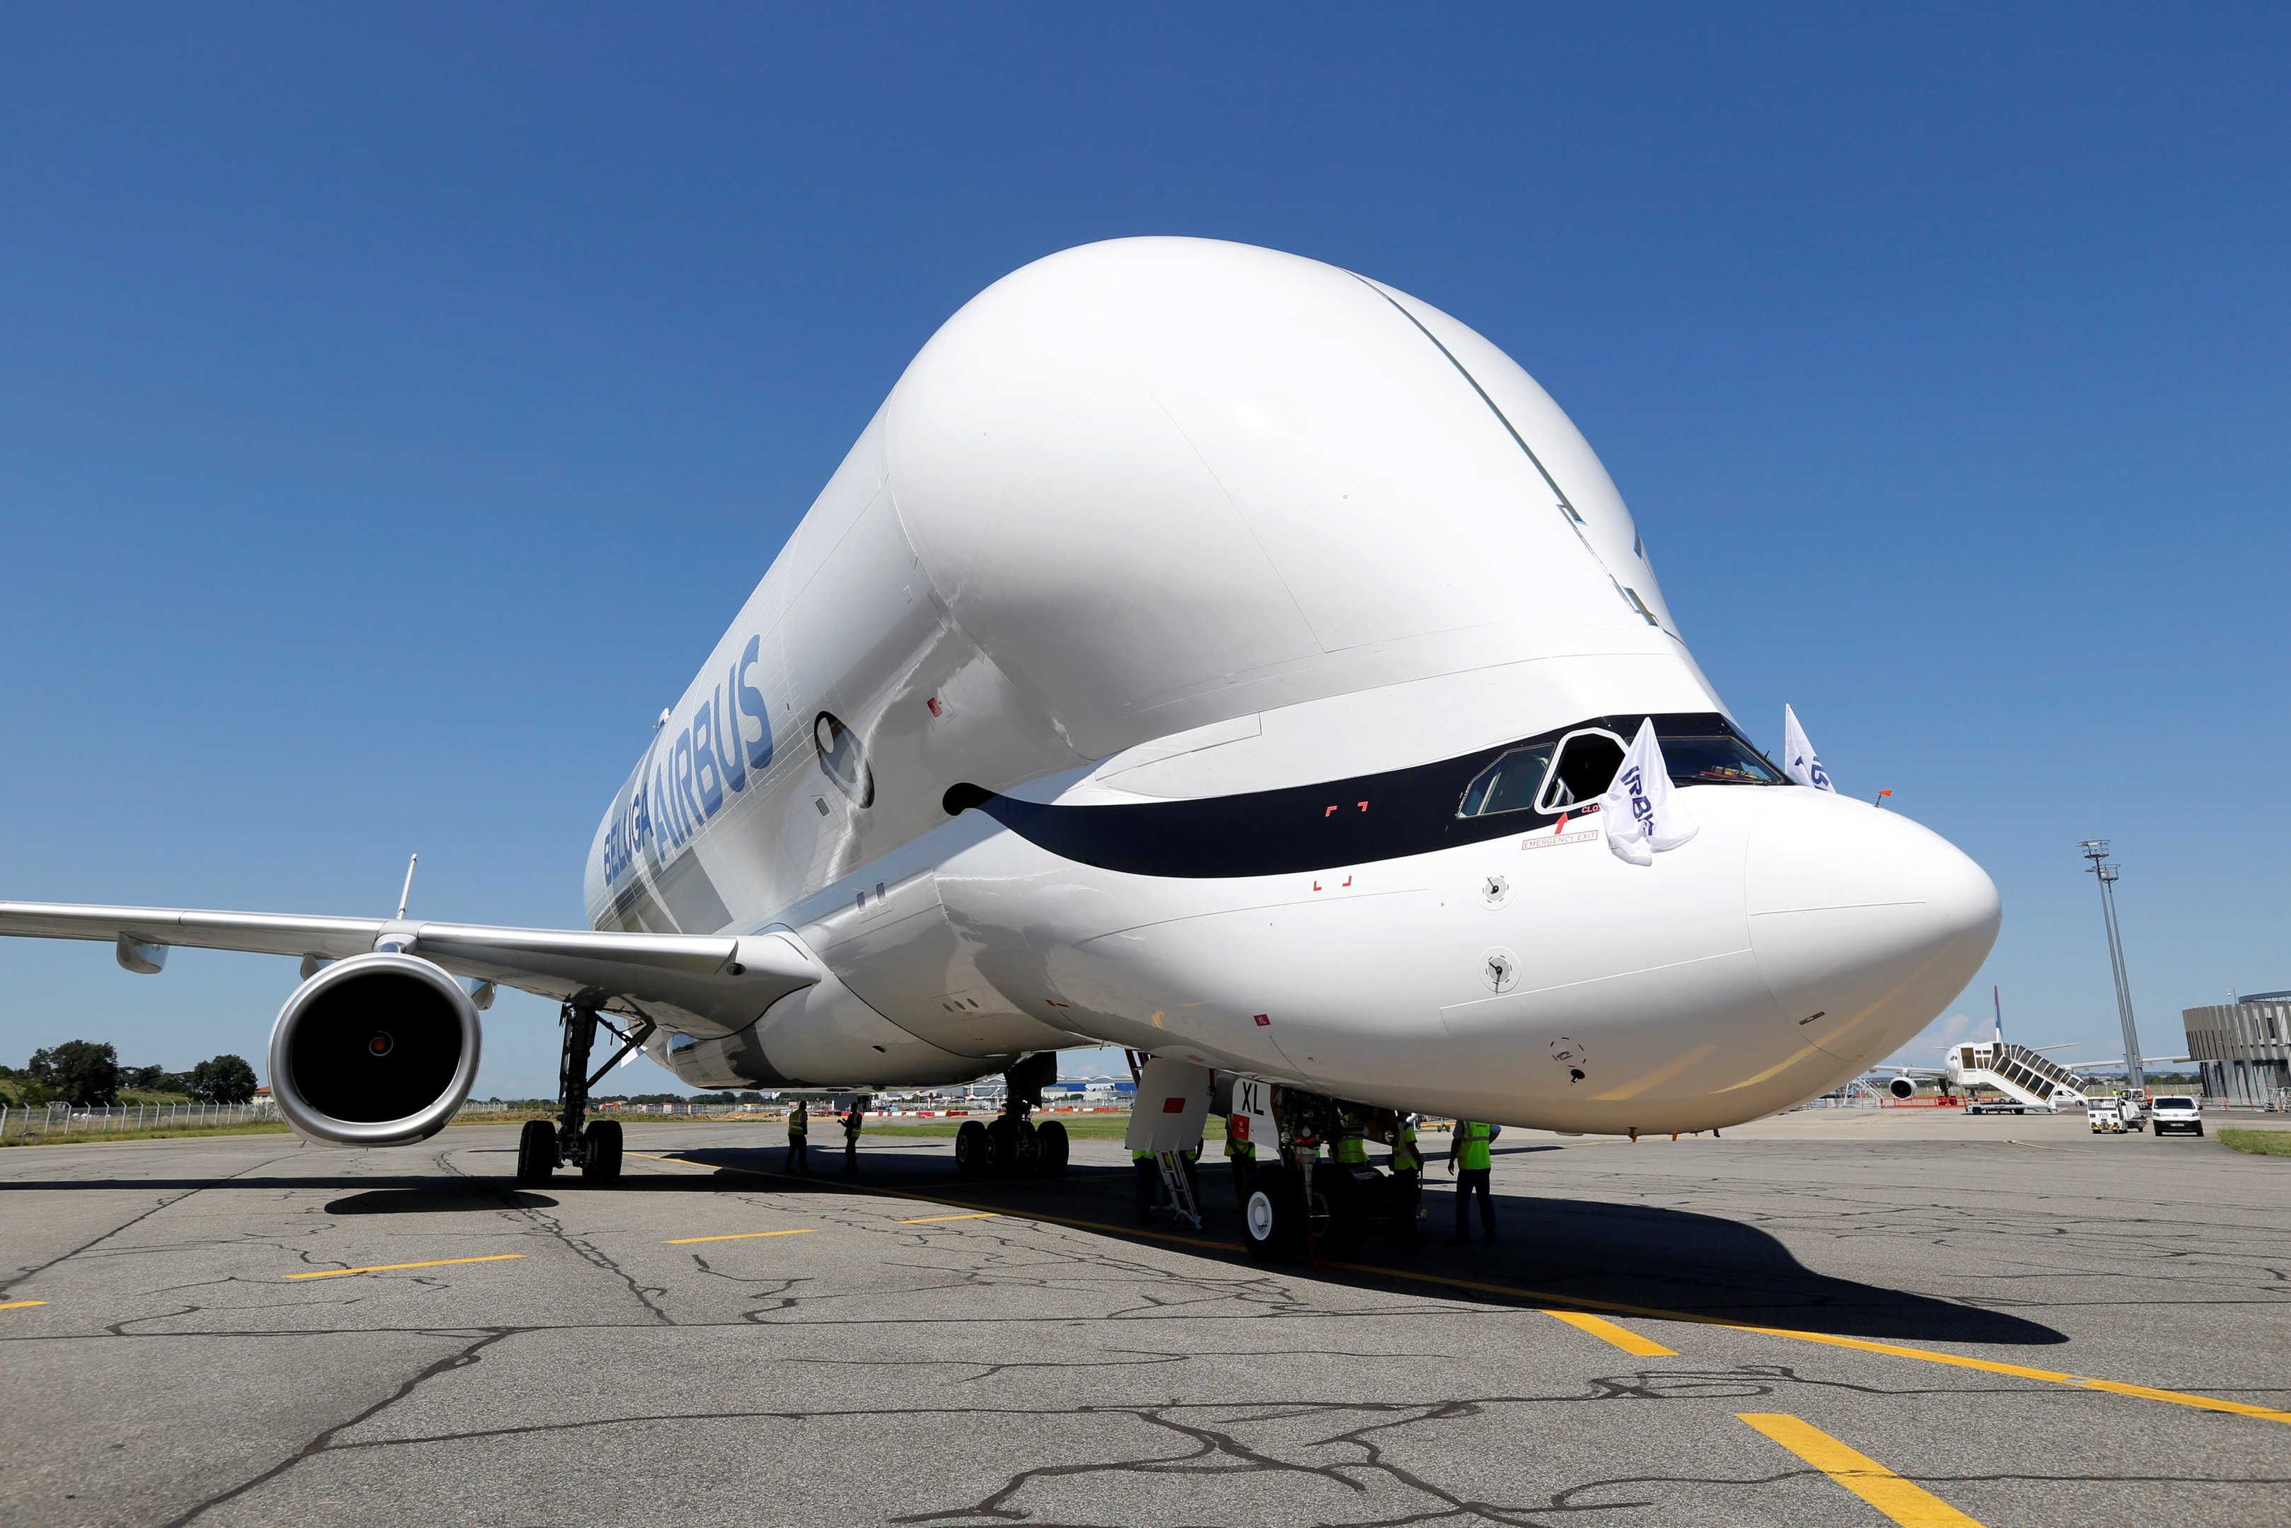
{"type": "Polygon", "coordinates": [[[339,960],[270,1026],[270,1097],[305,1136],[408,1145],[444,1129],[477,1081],[477,1006],[415,955],[339,960]]]}

